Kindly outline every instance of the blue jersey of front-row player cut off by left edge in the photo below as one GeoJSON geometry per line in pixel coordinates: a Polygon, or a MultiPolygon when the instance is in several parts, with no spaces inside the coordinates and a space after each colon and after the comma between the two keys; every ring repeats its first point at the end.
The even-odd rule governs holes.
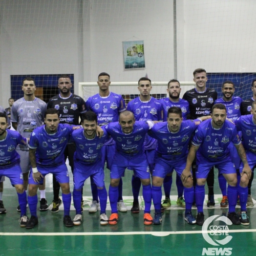
{"type": "Polygon", "coordinates": [[[6,129],[6,137],[0,141],[0,169],[20,163],[20,155],[15,150],[18,144],[26,145],[27,139],[16,130],[6,129]]]}

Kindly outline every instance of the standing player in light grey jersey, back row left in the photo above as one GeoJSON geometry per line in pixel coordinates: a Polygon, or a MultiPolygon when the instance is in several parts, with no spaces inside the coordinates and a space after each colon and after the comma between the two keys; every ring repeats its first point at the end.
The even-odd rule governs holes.
{"type": "MultiPolygon", "coordinates": [[[[21,136],[30,138],[31,133],[37,127],[43,125],[43,117],[46,111],[46,103],[35,96],[35,80],[26,77],[22,81],[23,98],[17,100],[11,110],[12,127],[17,130],[21,136]]],[[[24,190],[27,190],[28,173],[30,171],[30,161],[28,156],[28,146],[18,145],[17,152],[21,156],[21,170],[23,173],[24,190]]],[[[39,186],[40,190],[40,211],[48,210],[45,199],[45,181],[39,186]]],[[[17,211],[21,211],[20,206],[17,211]]]]}

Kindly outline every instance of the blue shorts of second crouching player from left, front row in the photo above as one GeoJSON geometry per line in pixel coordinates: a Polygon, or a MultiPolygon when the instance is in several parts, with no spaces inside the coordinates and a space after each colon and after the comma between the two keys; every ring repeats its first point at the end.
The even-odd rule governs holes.
{"type": "MultiPolygon", "coordinates": [[[[39,172],[41,172],[43,177],[48,173],[52,173],[52,174],[55,175],[56,180],[59,183],[69,183],[69,174],[68,174],[68,171],[67,171],[66,164],[57,165],[57,166],[54,166],[54,167],[37,166],[37,170],[39,172]]],[[[29,173],[28,184],[43,185],[43,178],[41,178],[40,182],[35,182],[34,179],[33,179],[32,173],[33,172],[32,172],[32,169],[31,169],[30,173],[29,173]]]]}

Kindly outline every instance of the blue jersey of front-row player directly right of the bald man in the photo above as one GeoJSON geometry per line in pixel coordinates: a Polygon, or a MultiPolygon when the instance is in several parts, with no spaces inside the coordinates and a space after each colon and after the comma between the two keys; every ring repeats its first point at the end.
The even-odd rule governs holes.
{"type": "Polygon", "coordinates": [[[149,130],[149,136],[157,139],[156,157],[166,160],[186,159],[190,138],[201,120],[186,120],[181,123],[178,132],[171,132],[168,123],[157,123],[149,130]]]}

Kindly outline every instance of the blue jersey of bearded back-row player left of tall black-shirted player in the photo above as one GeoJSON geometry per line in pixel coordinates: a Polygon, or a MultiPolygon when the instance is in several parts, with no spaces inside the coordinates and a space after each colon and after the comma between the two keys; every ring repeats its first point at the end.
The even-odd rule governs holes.
{"type": "Polygon", "coordinates": [[[163,98],[159,100],[164,109],[164,121],[167,121],[167,112],[170,107],[180,107],[182,111],[183,120],[187,120],[187,115],[190,113],[189,102],[183,99],[179,99],[178,102],[170,101],[169,98],[163,98]]]}

